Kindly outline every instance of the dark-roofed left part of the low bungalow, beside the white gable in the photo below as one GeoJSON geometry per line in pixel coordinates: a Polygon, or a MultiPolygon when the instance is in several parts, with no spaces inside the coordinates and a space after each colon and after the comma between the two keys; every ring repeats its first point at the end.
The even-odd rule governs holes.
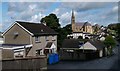
{"type": "Polygon", "coordinates": [[[82,60],[85,59],[85,55],[79,50],[83,45],[83,41],[78,39],[65,39],[60,48],[61,60],[82,60]]]}

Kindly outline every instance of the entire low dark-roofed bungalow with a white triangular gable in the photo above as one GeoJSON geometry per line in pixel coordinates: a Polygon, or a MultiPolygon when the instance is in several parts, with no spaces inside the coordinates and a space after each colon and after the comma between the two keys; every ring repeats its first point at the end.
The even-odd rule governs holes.
{"type": "Polygon", "coordinates": [[[105,46],[99,40],[65,39],[60,48],[60,56],[63,60],[98,58],[103,57],[104,54],[105,46]]]}

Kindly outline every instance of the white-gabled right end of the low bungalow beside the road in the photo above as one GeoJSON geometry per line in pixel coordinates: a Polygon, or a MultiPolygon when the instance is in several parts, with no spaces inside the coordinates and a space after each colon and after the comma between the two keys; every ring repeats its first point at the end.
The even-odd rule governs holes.
{"type": "Polygon", "coordinates": [[[90,40],[87,41],[79,49],[85,50],[86,52],[96,52],[96,55],[98,55],[98,57],[103,57],[105,52],[105,45],[99,40],[90,40]]]}

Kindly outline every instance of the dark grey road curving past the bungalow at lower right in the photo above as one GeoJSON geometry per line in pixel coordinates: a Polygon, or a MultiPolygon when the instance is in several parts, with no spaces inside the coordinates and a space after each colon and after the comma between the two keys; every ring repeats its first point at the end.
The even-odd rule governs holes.
{"type": "Polygon", "coordinates": [[[48,65],[48,69],[118,69],[118,48],[114,55],[89,61],[60,61],[59,63],[48,65]]]}

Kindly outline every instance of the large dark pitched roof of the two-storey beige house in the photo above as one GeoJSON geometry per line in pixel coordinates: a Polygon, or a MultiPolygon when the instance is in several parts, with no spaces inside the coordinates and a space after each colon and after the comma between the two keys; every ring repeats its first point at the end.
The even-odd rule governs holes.
{"type": "Polygon", "coordinates": [[[53,29],[41,23],[22,22],[22,21],[16,21],[16,22],[19,23],[21,26],[23,26],[25,29],[27,29],[29,32],[33,33],[35,36],[57,34],[53,29]]]}

